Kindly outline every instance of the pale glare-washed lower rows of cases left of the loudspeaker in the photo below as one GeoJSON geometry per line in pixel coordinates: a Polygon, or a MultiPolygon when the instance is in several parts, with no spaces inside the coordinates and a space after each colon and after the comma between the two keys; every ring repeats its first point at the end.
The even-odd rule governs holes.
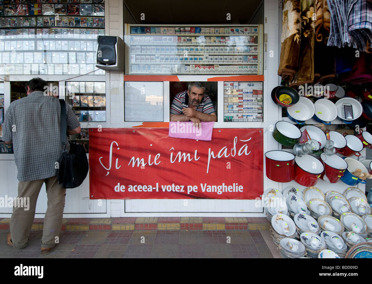
{"type": "MultiPolygon", "coordinates": [[[[4,74],[77,74],[96,70],[99,29],[2,29],[0,70],[4,74]],[[5,65],[5,66],[4,66],[5,65]]],[[[104,70],[94,72],[105,74],[104,70]]]]}

